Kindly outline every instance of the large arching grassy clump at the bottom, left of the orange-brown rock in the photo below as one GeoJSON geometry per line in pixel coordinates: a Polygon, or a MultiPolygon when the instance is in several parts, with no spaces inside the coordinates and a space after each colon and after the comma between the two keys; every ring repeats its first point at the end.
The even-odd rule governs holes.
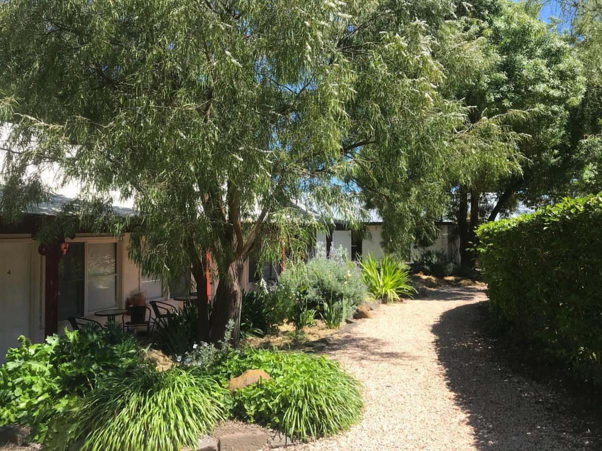
{"type": "Polygon", "coordinates": [[[52,449],[196,449],[199,434],[227,416],[228,391],[200,369],[149,367],[107,382],[57,421],[52,449]]]}

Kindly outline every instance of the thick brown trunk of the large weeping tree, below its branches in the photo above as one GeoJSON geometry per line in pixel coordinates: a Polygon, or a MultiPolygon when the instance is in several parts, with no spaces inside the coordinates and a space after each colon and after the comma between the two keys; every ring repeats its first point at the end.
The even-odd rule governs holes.
{"type": "Polygon", "coordinates": [[[213,299],[211,310],[211,333],[209,339],[212,343],[223,340],[226,325],[229,320],[234,321],[232,344],[238,345],[240,335],[240,309],[243,302],[243,259],[232,262],[224,274],[220,273],[216,297],[213,299]]]}

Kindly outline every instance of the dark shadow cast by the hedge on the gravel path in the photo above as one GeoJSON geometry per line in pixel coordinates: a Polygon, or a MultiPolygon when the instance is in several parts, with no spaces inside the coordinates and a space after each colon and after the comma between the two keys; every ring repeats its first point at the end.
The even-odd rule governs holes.
{"type": "MultiPolygon", "coordinates": [[[[459,296],[451,291],[451,298],[459,296]]],[[[517,363],[520,350],[513,355],[483,333],[485,312],[484,303],[461,305],[432,327],[447,385],[468,414],[477,449],[602,449],[598,394],[596,400],[545,378],[536,382],[517,363]]]]}

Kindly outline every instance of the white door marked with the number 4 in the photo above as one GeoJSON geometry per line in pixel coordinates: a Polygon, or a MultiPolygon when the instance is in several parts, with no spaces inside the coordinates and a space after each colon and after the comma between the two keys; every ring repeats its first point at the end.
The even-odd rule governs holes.
{"type": "Polygon", "coordinates": [[[29,336],[31,244],[0,243],[0,363],[7,348],[29,336]]]}

